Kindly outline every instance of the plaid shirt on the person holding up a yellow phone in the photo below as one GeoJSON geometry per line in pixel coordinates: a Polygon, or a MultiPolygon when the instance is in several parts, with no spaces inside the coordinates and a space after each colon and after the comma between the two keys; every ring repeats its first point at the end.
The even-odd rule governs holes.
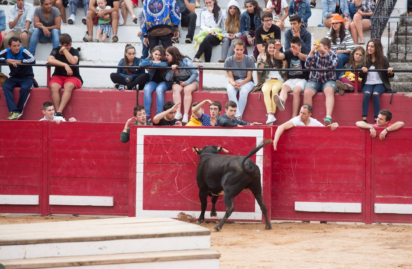
{"type": "MultiPolygon", "coordinates": [[[[306,69],[336,69],[338,57],[332,51],[325,57],[322,57],[319,51],[315,51],[313,56],[308,56],[305,62],[306,69]]],[[[335,72],[312,72],[310,79],[316,83],[325,83],[328,80],[336,80],[335,72]]]]}

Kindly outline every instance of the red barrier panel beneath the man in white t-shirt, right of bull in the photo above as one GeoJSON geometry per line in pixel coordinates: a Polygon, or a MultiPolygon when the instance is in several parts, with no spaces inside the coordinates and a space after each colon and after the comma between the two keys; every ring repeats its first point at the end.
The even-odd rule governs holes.
{"type": "Polygon", "coordinates": [[[365,222],[364,160],[364,129],[286,130],[272,149],[272,219],[365,222]]]}

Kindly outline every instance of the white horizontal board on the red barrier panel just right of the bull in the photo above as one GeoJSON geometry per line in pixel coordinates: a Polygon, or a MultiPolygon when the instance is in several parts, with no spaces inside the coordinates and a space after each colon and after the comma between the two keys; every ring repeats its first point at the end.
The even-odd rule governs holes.
{"type": "Polygon", "coordinates": [[[361,213],[361,203],[295,202],[295,211],[361,213]]]}

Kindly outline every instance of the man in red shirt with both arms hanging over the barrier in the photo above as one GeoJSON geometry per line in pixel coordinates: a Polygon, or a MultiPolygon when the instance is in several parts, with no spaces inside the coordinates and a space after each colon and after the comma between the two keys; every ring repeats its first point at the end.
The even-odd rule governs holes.
{"type": "Polygon", "coordinates": [[[356,126],[363,128],[363,129],[369,129],[370,136],[372,138],[376,137],[376,130],[375,130],[376,127],[385,128],[384,130],[382,130],[382,132],[379,135],[379,139],[384,140],[388,132],[396,131],[402,128],[403,125],[405,125],[405,123],[403,123],[402,121],[397,121],[396,123],[391,124],[389,123],[391,119],[392,119],[391,111],[387,109],[382,109],[381,111],[379,111],[379,115],[376,119],[376,124],[371,125],[371,124],[366,123],[365,121],[357,121],[356,126]]]}

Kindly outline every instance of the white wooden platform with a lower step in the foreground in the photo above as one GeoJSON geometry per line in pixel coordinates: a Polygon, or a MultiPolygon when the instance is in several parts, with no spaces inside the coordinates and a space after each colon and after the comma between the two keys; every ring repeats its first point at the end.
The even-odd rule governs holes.
{"type": "Polygon", "coordinates": [[[210,250],[208,229],[169,218],[0,225],[0,234],[0,268],[84,268],[96,264],[119,268],[113,267],[119,263],[129,264],[122,268],[156,268],[146,264],[154,261],[167,261],[173,268],[169,266],[173,260],[212,259],[213,265],[220,257],[210,250]]]}

